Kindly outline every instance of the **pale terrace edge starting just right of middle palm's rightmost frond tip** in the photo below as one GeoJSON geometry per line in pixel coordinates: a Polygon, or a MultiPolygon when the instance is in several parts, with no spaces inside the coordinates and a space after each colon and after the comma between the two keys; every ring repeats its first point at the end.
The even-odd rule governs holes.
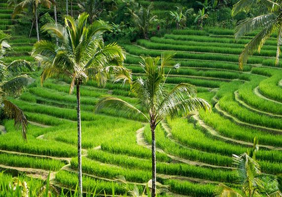
{"type": "Polygon", "coordinates": [[[279,129],[273,129],[273,128],[268,128],[268,127],[263,127],[263,126],[257,126],[257,125],[252,125],[252,124],[243,122],[243,121],[239,120],[238,118],[230,115],[228,112],[222,110],[218,103],[216,103],[214,105],[214,109],[216,110],[216,112],[218,112],[222,116],[225,116],[226,118],[234,121],[238,125],[249,127],[249,128],[253,128],[253,129],[259,129],[259,130],[262,130],[262,131],[269,131],[269,132],[276,133],[276,134],[282,134],[282,130],[279,130],[279,129]]]}

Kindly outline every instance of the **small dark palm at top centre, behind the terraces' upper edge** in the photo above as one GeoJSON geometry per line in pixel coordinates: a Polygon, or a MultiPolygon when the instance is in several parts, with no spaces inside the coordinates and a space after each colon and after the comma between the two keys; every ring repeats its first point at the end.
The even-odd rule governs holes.
{"type": "Polygon", "coordinates": [[[151,3],[147,8],[142,5],[138,5],[137,10],[130,9],[130,14],[132,15],[135,24],[138,26],[140,31],[143,33],[145,39],[149,39],[148,31],[150,25],[157,18],[156,15],[152,16],[153,3],[151,3]]]}

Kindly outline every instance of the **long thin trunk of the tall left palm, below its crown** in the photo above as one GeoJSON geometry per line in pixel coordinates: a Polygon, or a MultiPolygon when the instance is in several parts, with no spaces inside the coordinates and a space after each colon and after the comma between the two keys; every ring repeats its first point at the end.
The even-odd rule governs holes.
{"type": "Polygon", "coordinates": [[[81,119],[80,119],[80,89],[76,85],[77,99],[77,156],[78,156],[78,189],[79,197],[82,197],[82,166],[81,166],[81,119]]]}

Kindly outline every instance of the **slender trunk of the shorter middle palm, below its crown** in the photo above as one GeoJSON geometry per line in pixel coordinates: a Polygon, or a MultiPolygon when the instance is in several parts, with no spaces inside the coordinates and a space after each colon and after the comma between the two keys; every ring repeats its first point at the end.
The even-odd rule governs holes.
{"type": "Polygon", "coordinates": [[[152,194],[151,197],[156,196],[156,141],[155,141],[155,126],[151,125],[152,133],[152,194]]]}

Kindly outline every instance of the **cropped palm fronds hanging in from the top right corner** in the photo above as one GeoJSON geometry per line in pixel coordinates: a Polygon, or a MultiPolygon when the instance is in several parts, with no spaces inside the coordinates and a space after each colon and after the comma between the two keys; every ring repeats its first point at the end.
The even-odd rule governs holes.
{"type": "Polygon", "coordinates": [[[265,41],[272,33],[277,33],[277,53],[275,65],[279,64],[280,46],[282,44],[282,0],[239,0],[232,9],[232,16],[241,11],[249,11],[252,7],[263,5],[268,13],[242,21],[236,27],[235,39],[239,39],[244,34],[259,30],[246,45],[244,50],[239,56],[239,66],[243,69],[244,64],[247,63],[248,56],[253,54],[257,49],[260,52],[265,41]]]}

